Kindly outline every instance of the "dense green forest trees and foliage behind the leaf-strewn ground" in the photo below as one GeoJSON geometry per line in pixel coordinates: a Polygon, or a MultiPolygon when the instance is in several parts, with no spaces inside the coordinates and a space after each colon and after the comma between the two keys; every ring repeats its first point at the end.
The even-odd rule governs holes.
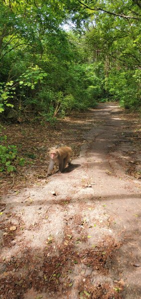
{"type": "Polygon", "coordinates": [[[57,114],[95,107],[109,96],[124,107],[140,107],[136,1],[0,3],[0,82],[6,82],[0,112],[14,105],[25,120],[32,115],[55,124],[57,114]],[[63,29],[67,21],[73,31],[63,29]]]}

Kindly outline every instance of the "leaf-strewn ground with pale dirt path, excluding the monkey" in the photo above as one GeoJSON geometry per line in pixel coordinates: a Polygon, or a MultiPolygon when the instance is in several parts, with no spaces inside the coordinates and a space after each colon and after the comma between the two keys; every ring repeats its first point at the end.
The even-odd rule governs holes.
{"type": "Polygon", "coordinates": [[[5,126],[26,163],[1,174],[0,299],[141,298],[140,124],[105,103],[54,126],[5,126]],[[62,144],[72,166],[46,178],[48,148],[62,144]]]}

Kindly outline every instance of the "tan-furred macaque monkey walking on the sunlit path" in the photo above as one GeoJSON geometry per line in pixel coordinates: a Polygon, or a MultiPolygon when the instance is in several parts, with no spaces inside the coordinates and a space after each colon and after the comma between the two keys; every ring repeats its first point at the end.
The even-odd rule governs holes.
{"type": "Polygon", "coordinates": [[[50,149],[49,151],[50,162],[47,170],[47,175],[53,169],[55,163],[59,164],[59,173],[61,173],[65,169],[67,163],[71,164],[71,159],[70,159],[71,153],[72,153],[72,149],[69,147],[50,149]]]}

